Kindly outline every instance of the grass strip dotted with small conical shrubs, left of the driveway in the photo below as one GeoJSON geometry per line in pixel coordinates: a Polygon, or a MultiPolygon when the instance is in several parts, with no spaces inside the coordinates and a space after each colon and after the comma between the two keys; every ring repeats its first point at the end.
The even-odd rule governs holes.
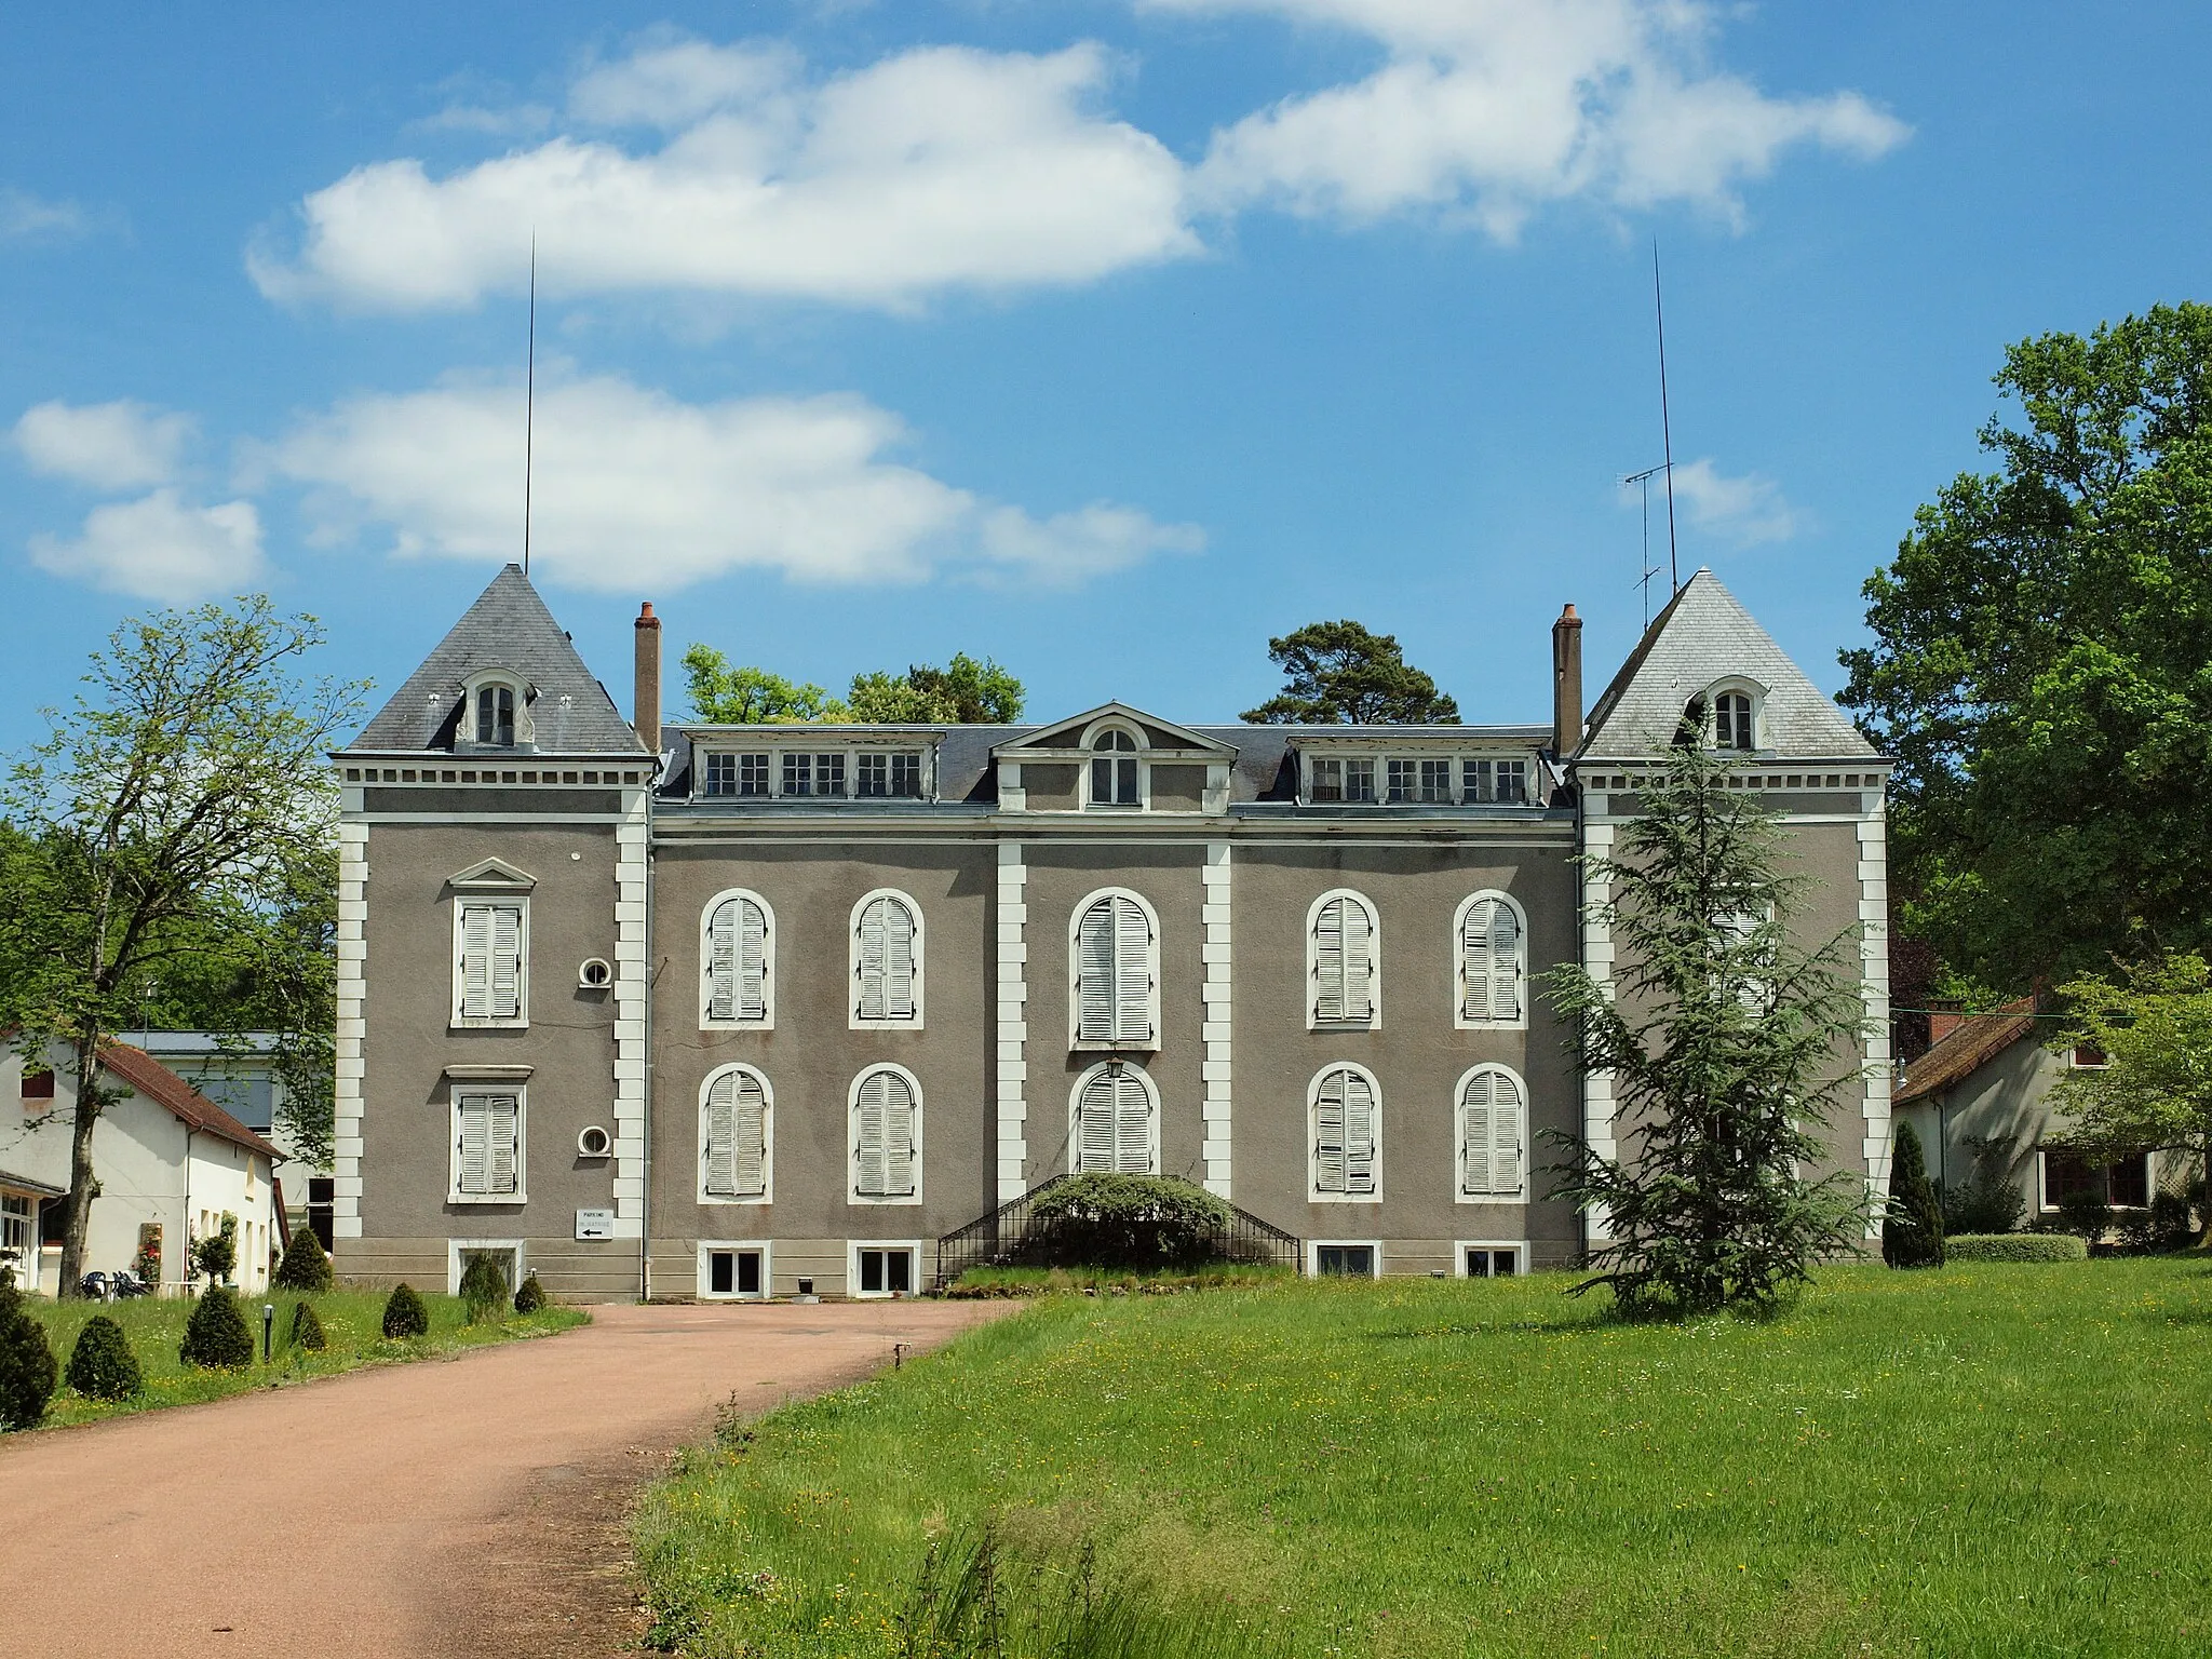
{"type": "Polygon", "coordinates": [[[296,1292],[274,1292],[270,1296],[241,1296],[246,1321],[254,1332],[254,1349],[261,1345],[261,1310],[276,1307],[276,1356],[272,1363],[257,1363],[246,1371],[199,1371],[177,1363],[177,1345],[184,1340],[184,1321],[192,1314],[192,1303],[184,1298],[157,1301],[153,1296],[128,1303],[53,1303],[40,1296],[22,1305],[46,1327],[53,1358],[69,1371],[69,1354],[77,1343],[77,1332],[93,1314],[106,1314],[131,1338],[137,1352],[139,1371],[146,1376],[146,1391],[135,1400],[100,1405],[86,1400],[66,1380],[53,1391],[46,1407],[44,1427],[66,1422],[97,1422],[124,1411],[148,1411],[164,1405],[188,1405],[192,1400],[221,1400],[228,1394],[276,1387],[310,1376],[334,1376],[361,1365],[389,1365],[396,1360],[418,1360],[431,1354],[453,1354],[484,1343],[507,1343],[518,1336],[544,1336],[586,1323],[588,1314],[575,1307],[549,1307],[542,1314],[509,1314],[500,1323],[469,1325],[467,1310],[456,1296],[425,1296],[429,1310],[429,1336],[409,1343],[387,1343],[383,1338],[385,1294],[372,1290],[336,1290],[316,1296],[314,1307],[323,1318],[323,1336],[330,1347],[321,1354],[303,1354],[288,1347],[292,1332],[292,1310],[301,1301],[296,1292]]]}

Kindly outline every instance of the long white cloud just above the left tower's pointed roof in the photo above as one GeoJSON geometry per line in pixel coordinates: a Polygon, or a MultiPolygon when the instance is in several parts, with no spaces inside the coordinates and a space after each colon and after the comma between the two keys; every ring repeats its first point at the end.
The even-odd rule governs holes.
{"type": "MultiPolygon", "coordinates": [[[[387,524],[400,553],[522,549],[522,398],[447,383],[338,405],[265,467],[310,489],[323,540],[387,524]]],[[[896,416],[854,396],[692,405],[617,376],[540,383],[533,566],[577,588],[661,591],[730,571],[900,584],[938,571],[1079,582],[1192,526],[1095,504],[1035,520],[889,460],[896,416]]]]}

